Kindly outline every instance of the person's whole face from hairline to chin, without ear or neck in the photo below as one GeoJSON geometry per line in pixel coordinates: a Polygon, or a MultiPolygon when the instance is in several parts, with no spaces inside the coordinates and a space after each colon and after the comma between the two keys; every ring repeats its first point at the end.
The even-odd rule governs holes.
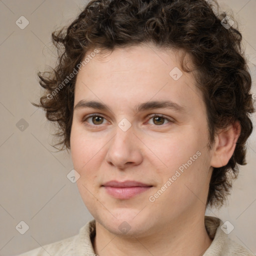
{"type": "Polygon", "coordinates": [[[112,233],[155,233],[204,215],[212,170],[206,110],[192,74],[180,70],[179,51],[137,45],[99,52],[77,74],[70,136],[76,183],[112,233]],[[113,180],[120,183],[106,184],[113,180]]]}

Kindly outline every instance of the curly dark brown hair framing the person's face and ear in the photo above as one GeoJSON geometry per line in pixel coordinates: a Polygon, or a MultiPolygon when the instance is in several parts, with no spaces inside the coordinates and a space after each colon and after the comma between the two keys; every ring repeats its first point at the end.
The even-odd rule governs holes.
{"type": "MultiPolygon", "coordinates": [[[[226,15],[218,11],[216,1],[90,1],[67,28],[52,32],[58,61],[51,71],[38,72],[39,83],[45,91],[40,104],[33,104],[43,108],[46,118],[57,124],[55,135],[59,143],[54,147],[62,145],[60,150],[70,149],[77,67],[91,49],[113,51],[115,47],[146,42],[182,49],[192,59],[194,77],[203,92],[209,149],[218,129],[235,120],[241,125],[231,158],[225,166],[213,168],[209,184],[206,206],[222,206],[232,186],[229,172],[236,178],[237,164],[246,164],[245,142],[252,132],[249,114],[254,111],[251,76],[241,50],[242,36],[237,25],[236,28],[224,26],[229,24],[226,15]]],[[[184,71],[191,71],[181,65],[184,71]]]]}

